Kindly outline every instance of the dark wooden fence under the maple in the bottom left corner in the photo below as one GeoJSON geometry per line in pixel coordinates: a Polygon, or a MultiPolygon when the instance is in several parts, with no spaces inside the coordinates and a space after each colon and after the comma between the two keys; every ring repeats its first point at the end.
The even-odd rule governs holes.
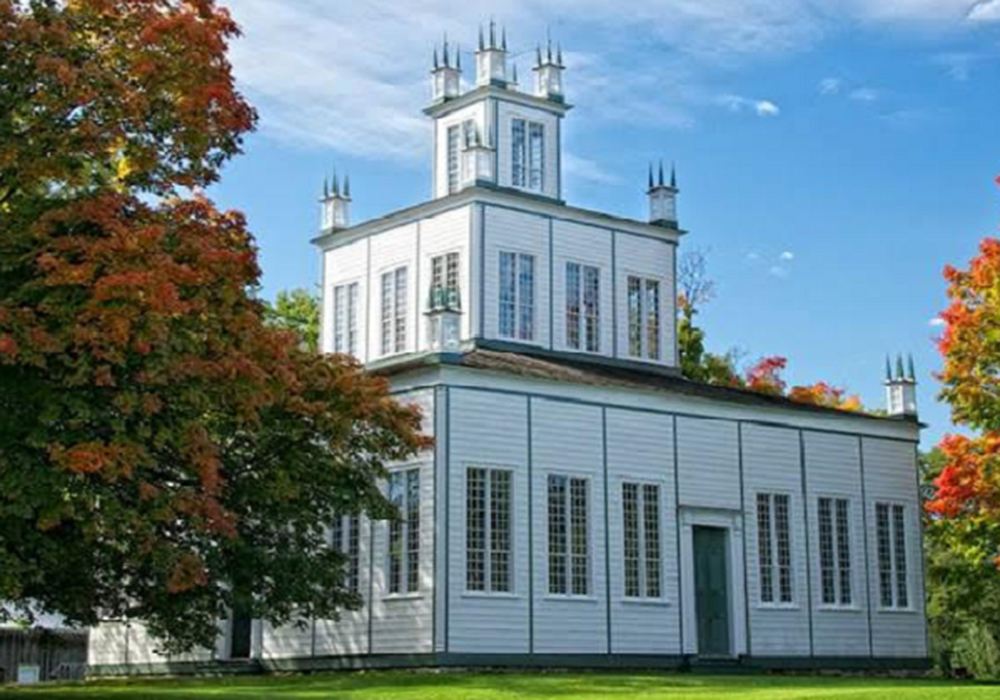
{"type": "Polygon", "coordinates": [[[0,629],[0,683],[16,683],[22,666],[38,668],[38,679],[83,678],[87,632],[0,629]]]}

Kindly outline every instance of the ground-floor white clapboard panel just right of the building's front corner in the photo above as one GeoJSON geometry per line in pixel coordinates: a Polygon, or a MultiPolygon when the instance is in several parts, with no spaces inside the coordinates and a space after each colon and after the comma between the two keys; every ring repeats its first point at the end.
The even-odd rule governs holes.
{"type": "Polygon", "coordinates": [[[449,390],[450,493],[448,650],[528,652],[528,402],[522,397],[449,390]],[[466,472],[470,466],[513,473],[511,594],[466,591],[466,472]]]}

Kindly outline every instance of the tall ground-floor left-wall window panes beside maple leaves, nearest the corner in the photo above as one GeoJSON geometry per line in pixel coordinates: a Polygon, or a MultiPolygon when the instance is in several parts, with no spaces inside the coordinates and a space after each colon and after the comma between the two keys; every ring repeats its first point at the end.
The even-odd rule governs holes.
{"type": "Polygon", "coordinates": [[[420,470],[389,475],[389,500],[398,517],[389,523],[389,593],[420,590],[420,470]]]}

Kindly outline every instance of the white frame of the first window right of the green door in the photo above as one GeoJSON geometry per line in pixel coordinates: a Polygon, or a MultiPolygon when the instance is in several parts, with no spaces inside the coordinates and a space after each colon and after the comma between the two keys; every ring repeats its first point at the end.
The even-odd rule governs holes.
{"type": "Polygon", "coordinates": [[[792,535],[792,518],[795,512],[795,497],[782,491],[758,491],[754,498],[754,517],[757,527],[757,605],[761,608],[789,609],[798,608],[798,590],[796,589],[795,545],[792,535]],[[768,504],[767,528],[762,527],[761,499],[768,504]],[[785,547],[787,548],[788,564],[781,563],[781,532],[779,528],[778,499],[785,499],[787,504],[785,526],[785,547]],[[767,540],[762,535],[766,534],[767,540]],[[766,547],[765,547],[766,544],[766,547]],[[767,557],[764,550],[767,549],[767,557]],[[786,576],[787,574],[787,576],[786,576]],[[767,585],[765,585],[765,580],[767,585]],[[784,596],[784,583],[788,583],[788,598],[784,596]],[[770,599],[765,593],[770,594],[770,599]]]}

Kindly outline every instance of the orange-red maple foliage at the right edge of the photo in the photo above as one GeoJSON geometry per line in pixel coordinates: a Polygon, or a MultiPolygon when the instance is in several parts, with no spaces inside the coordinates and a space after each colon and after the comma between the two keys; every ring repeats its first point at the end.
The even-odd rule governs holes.
{"type": "Polygon", "coordinates": [[[927,509],[956,551],[1000,567],[1000,240],[984,239],[967,269],[944,275],[941,396],[969,434],[942,440],[945,466],[927,509]]]}

